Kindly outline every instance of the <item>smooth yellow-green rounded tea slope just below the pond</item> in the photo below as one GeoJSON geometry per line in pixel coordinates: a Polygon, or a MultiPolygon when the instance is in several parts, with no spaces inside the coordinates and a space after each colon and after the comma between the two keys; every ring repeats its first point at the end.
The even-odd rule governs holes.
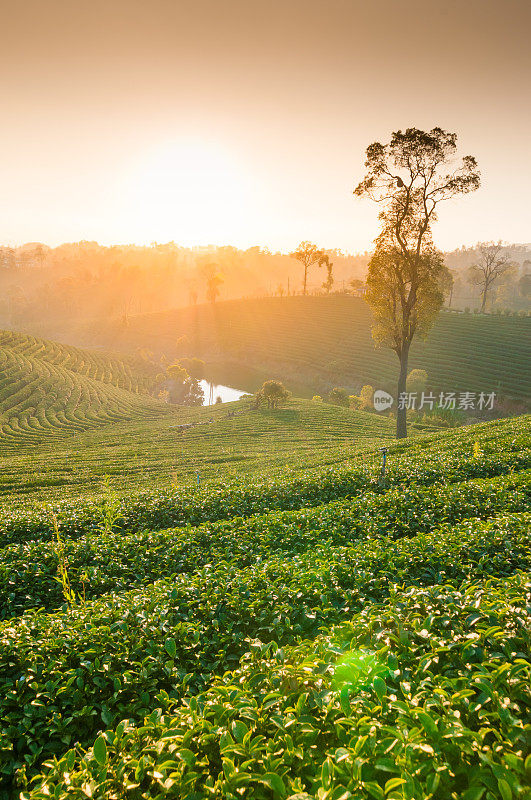
{"type": "Polygon", "coordinates": [[[177,408],[0,456],[0,500],[98,495],[105,476],[120,494],[195,486],[198,478],[253,480],[343,461],[393,437],[388,418],[310,400],[276,411],[251,410],[247,400],[177,408]],[[193,427],[181,433],[180,425],[193,427]]]}

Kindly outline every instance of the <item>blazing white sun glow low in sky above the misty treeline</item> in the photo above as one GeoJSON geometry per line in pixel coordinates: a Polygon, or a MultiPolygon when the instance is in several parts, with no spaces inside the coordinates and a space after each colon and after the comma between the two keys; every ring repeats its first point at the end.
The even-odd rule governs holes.
{"type": "Polygon", "coordinates": [[[239,159],[221,146],[172,142],[128,176],[120,192],[122,227],[135,241],[241,242],[248,233],[249,188],[239,159]]]}

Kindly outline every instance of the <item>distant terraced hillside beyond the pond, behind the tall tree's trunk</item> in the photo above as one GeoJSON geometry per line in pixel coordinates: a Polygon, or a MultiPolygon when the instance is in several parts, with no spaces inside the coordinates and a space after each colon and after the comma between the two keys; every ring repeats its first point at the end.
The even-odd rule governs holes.
{"type": "MultiPolygon", "coordinates": [[[[169,357],[186,335],[192,355],[217,363],[217,379],[241,389],[254,390],[274,375],[310,397],[364,383],[396,393],[396,356],[375,347],[370,328],[362,299],[332,295],[198,305],[133,317],[127,326],[91,335],[106,347],[146,346],[169,357]]],[[[427,370],[434,391],[496,392],[527,403],[530,345],[530,317],[443,312],[427,340],[415,342],[410,368],[427,370]]]]}

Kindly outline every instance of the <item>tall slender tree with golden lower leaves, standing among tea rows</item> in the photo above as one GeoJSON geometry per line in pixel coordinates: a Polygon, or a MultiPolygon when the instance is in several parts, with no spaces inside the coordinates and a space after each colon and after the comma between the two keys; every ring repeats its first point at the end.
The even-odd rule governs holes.
{"type": "Polygon", "coordinates": [[[381,233],[369,262],[366,299],[374,314],[373,338],[398,356],[396,435],[407,436],[409,351],[415,334],[427,335],[442,307],[449,272],[433,245],[431,226],[443,200],[479,186],[473,156],[455,161],[457,135],[441,128],[396,131],[388,144],[366,151],[367,173],[354,190],[379,203],[381,233]]]}

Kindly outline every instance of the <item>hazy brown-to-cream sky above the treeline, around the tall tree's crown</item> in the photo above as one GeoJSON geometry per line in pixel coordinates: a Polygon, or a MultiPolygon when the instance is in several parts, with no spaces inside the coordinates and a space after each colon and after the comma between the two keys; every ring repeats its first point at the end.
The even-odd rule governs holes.
{"type": "Polygon", "coordinates": [[[364,151],[476,156],[443,248],[531,241],[528,0],[0,0],[0,242],[369,248],[364,151]]]}

